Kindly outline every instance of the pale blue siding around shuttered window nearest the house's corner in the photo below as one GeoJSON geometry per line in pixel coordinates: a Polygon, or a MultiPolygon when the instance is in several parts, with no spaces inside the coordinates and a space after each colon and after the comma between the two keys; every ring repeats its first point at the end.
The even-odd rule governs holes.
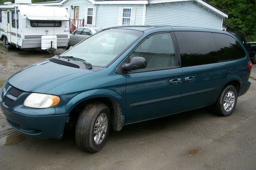
{"type": "Polygon", "coordinates": [[[143,5],[97,5],[96,27],[118,26],[119,8],[136,8],[135,25],[142,25],[143,5]]]}

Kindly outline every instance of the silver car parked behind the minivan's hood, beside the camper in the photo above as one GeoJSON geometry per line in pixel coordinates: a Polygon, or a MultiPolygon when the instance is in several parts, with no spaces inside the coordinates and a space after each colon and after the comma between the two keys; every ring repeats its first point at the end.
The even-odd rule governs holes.
{"type": "Polygon", "coordinates": [[[101,29],[95,29],[92,27],[81,27],[76,29],[73,33],[70,34],[68,47],[77,44],[78,42],[88,38],[100,30],[101,29]]]}

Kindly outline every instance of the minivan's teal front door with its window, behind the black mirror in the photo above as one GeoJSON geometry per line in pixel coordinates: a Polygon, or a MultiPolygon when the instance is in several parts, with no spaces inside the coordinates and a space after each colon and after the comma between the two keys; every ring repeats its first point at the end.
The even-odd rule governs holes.
{"type": "Polygon", "coordinates": [[[146,59],[147,67],[126,75],[125,123],[160,117],[176,112],[181,100],[182,69],[170,33],[146,38],[132,57],[146,59]]]}

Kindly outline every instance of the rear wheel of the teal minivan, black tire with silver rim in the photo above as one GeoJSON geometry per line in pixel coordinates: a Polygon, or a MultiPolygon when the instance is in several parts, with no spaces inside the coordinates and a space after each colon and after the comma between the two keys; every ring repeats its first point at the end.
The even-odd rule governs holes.
{"type": "Polygon", "coordinates": [[[229,116],[236,108],[237,100],[237,89],[232,85],[225,87],[215,104],[216,114],[220,116],[229,116]]]}

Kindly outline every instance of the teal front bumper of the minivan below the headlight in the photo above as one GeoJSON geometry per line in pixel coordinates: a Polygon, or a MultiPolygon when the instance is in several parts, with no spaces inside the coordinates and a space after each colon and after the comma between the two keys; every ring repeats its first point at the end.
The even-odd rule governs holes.
{"type": "MultiPolygon", "coordinates": [[[[23,98],[23,94],[20,98],[23,98]]],[[[38,138],[60,139],[62,137],[69,114],[56,114],[55,108],[27,108],[18,103],[20,102],[17,100],[8,107],[3,99],[0,99],[0,108],[10,126],[17,131],[38,138]]]]}

